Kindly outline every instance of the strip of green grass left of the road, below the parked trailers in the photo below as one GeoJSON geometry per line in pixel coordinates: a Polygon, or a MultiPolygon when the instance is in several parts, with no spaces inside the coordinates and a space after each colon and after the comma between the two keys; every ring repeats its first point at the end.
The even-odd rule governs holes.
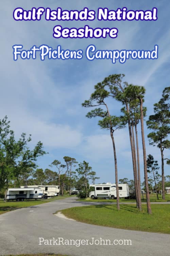
{"type": "Polygon", "coordinates": [[[68,195],[64,196],[57,196],[54,198],[50,199],[38,199],[38,200],[24,200],[23,202],[16,202],[16,201],[8,201],[5,202],[3,199],[0,199],[0,214],[5,213],[5,212],[10,212],[19,208],[24,208],[24,207],[30,207],[33,205],[37,204],[42,204],[42,203],[47,203],[51,202],[53,200],[60,200],[69,197],[68,195]]]}

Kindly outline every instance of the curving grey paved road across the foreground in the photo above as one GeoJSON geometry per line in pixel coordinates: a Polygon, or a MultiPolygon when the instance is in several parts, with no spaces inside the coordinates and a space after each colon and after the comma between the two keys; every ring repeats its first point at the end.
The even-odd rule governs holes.
{"type": "Polygon", "coordinates": [[[57,210],[87,204],[89,203],[79,202],[74,197],[70,197],[0,215],[0,255],[23,253],[61,253],[74,256],[170,255],[168,234],[95,226],[63,219],[52,214],[57,210]],[[77,240],[77,245],[80,239],[90,239],[88,243],[92,243],[91,238],[94,238],[96,243],[98,243],[97,240],[100,241],[100,238],[111,240],[111,243],[114,240],[127,239],[132,241],[132,245],[62,245],[62,239],[61,245],[39,245],[39,238],[73,239],[77,240]]]}

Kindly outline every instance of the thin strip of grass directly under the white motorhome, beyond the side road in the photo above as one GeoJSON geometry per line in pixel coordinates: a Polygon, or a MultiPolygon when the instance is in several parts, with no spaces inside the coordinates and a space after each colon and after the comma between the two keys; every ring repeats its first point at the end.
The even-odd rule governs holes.
{"type": "MultiPolygon", "coordinates": [[[[157,200],[156,194],[150,194],[150,201],[151,202],[167,202],[170,201],[170,194],[165,195],[165,200],[162,199],[162,195],[158,195],[159,200],[157,200]]],[[[144,200],[142,199],[142,202],[146,202],[146,195],[143,195],[144,200]]],[[[79,201],[88,201],[88,202],[116,202],[116,199],[78,199],[79,201]]],[[[120,202],[136,202],[136,199],[124,199],[120,198],[120,202]]]]}

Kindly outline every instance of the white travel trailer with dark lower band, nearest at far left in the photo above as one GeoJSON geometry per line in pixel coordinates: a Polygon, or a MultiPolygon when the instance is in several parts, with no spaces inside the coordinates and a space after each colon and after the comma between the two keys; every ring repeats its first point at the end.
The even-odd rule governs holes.
{"type": "Polygon", "coordinates": [[[43,197],[43,190],[39,187],[33,188],[8,188],[5,193],[5,200],[23,201],[24,199],[40,199],[43,197]]]}

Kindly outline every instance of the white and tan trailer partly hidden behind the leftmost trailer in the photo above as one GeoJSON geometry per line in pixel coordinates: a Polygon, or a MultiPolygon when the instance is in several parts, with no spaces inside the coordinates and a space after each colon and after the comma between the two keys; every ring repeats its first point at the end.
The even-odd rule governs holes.
{"type": "Polygon", "coordinates": [[[44,198],[58,196],[60,193],[59,186],[53,185],[32,185],[32,186],[20,186],[21,188],[39,187],[43,190],[44,198]]]}

